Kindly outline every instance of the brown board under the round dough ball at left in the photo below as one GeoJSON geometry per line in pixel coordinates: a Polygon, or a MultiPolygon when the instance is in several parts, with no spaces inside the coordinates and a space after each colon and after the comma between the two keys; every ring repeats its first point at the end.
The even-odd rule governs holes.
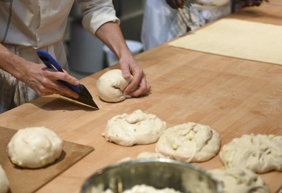
{"type": "Polygon", "coordinates": [[[6,151],[17,130],[0,127],[0,164],[10,182],[12,193],[34,192],[94,150],[93,147],[63,142],[61,156],[53,164],[39,169],[26,169],[10,162],[6,151]]]}

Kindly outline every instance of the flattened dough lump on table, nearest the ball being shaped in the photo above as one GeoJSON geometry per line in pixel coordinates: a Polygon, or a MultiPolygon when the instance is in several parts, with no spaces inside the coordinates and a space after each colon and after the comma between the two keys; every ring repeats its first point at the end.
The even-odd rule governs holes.
{"type": "Polygon", "coordinates": [[[104,137],[122,146],[155,143],[166,130],[166,123],[141,110],[123,113],[108,120],[104,137]]]}

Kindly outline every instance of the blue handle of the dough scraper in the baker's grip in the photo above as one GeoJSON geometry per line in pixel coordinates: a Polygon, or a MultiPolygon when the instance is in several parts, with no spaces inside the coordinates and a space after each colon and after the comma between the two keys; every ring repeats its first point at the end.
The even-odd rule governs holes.
{"type": "MultiPolygon", "coordinates": [[[[58,64],[58,62],[50,55],[48,54],[46,51],[44,50],[38,50],[37,51],[37,55],[39,56],[39,58],[42,60],[42,62],[45,64],[45,66],[47,66],[47,68],[52,68],[53,70],[58,70],[60,72],[64,72],[63,69],[61,68],[61,66],[58,64]],[[53,66],[56,68],[53,68],[53,66]]],[[[72,85],[64,80],[58,80],[58,82],[63,83],[64,85],[70,87],[71,89],[73,89],[75,92],[77,92],[78,94],[81,93],[81,90],[79,89],[80,85],[72,85]]]]}

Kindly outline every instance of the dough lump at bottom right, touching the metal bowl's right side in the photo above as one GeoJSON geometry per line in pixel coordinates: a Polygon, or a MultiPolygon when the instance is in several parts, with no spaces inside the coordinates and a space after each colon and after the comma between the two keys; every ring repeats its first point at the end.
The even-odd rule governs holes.
{"type": "Polygon", "coordinates": [[[224,193],[266,193],[269,192],[266,183],[252,170],[246,168],[221,168],[209,170],[223,183],[224,193]]]}

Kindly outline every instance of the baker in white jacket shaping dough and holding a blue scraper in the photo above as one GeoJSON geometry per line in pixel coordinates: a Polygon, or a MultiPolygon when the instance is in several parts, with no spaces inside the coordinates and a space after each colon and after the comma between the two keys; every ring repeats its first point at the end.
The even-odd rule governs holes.
{"type": "MultiPolygon", "coordinates": [[[[82,5],[83,27],[119,58],[125,79],[133,75],[124,94],[145,94],[150,85],[125,43],[112,1],[76,0],[76,3],[82,5]],[[137,85],[139,88],[130,92],[137,85]]],[[[0,113],[39,96],[61,94],[78,98],[76,92],[57,81],[79,84],[67,73],[62,43],[72,5],[73,0],[0,1],[0,113]],[[65,73],[46,68],[37,56],[38,49],[51,54],[65,73]]]]}

